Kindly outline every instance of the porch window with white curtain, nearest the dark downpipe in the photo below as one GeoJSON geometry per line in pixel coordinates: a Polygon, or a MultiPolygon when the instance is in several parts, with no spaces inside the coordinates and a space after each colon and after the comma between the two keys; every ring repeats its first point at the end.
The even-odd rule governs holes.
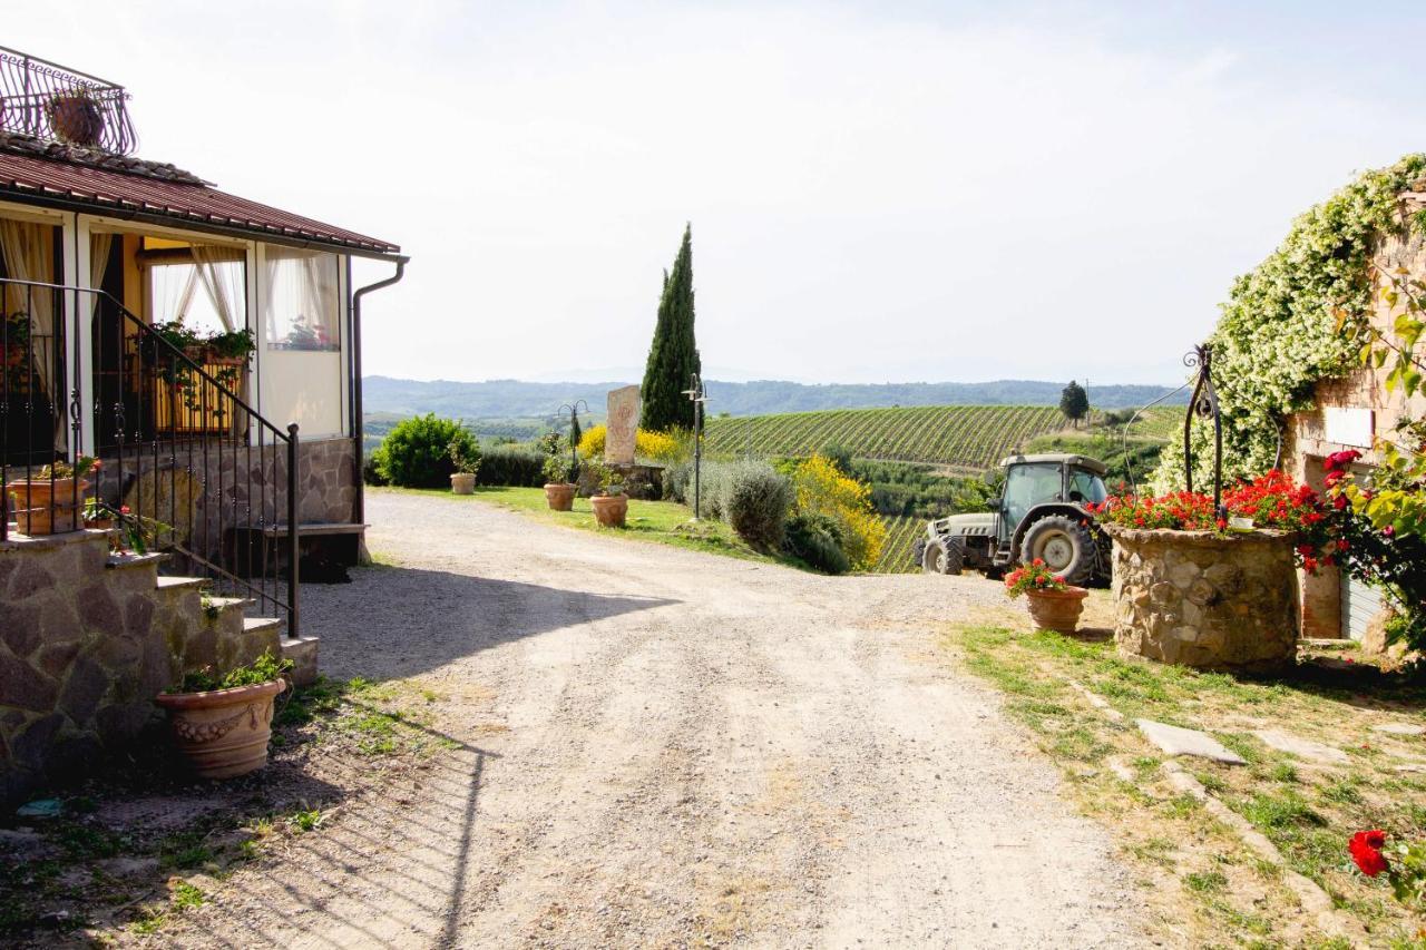
{"type": "Polygon", "coordinates": [[[338,349],[337,255],[270,244],[267,275],[268,349],[338,349]]]}

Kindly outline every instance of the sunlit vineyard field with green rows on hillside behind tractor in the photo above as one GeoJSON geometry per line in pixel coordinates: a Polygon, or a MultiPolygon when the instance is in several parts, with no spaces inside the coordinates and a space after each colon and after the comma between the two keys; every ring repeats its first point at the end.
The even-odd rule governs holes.
{"type": "Polygon", "coordinates": [[[767,456],[840,445],[856,458],[981,472],[1031,438],[1062,427],[1060,409],[1048,405],[833,409],[710,419],[707,446],[716,454],[767,456]]]}

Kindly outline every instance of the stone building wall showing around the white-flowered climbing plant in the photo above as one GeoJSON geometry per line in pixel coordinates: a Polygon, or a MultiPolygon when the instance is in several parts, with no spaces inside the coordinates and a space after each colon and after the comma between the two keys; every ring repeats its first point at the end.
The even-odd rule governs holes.
{"type": "MultiPolygon", "coordinates": [[[[1426,208],[1426,193],[1402,195],[1403,213],[1415,215],[1426,208]]],[[[1373,251],[1376,288],[1387,282],[1385,274],[1405,268],[1409,280],[1426,280],[1426,238],[1420,228],[1407,237],[1382,235],[1373,251]]],[[[1399,311],[1396,311],[1399,312],[1399,311]]],[[[1386,328],[1396,312],[1373,294],[1370,320],[1386,328]]],[[[1288,418],[1283,435],[1282,466],[1299,482],[1323,488],[1323,462],[1332,452],[1362,452],[1360,469],[1378,462],[1373,448],[1378,438],[1390,436],[1403,418],[1426,417],[1426,398],[1406,399],[1386,391],[1386,371],[1358,368],[1336,379],[1323,379],[1315,389],[1315,407],[1288,418]]],[[[1320,568],[1315,576],[1302,578],[1302,635],[1309,638],[1350,638],[1380,643],[1380,595],[1336,568],[1320,568]]]]}

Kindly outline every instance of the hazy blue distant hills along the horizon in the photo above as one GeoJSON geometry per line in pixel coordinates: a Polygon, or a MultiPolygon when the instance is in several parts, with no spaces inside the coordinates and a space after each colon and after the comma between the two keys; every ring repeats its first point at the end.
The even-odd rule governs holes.
{"type": "MultiPolygon", "coordinates": [[[[627,382],[522,382],[488,379],[453,382],[435,379],[394,379],[365,377],[362,404],[366,412],[416,415],[436,412],[452,418],[546,418],[560,404],[583,399],[593,415],[605,412],[610,389],[627,382]]],[[[807,385],[801,382],[754,381],[719,382],[710,379],[709,415],[766,415],[769,412],[809,412],[813,409],[868,409],[897,405],[1060,405],[1064,382],[1038,379],[1000,379],[995,382],[887,382],[807,385]]],[[[1124,409],[1151,402],[1174,387],[1099,385],[1089,387],[1089,402],[1097,409],[1124,409]]],[[[1171,402],[1188,402],[1179,392],[1171,402]]]]}

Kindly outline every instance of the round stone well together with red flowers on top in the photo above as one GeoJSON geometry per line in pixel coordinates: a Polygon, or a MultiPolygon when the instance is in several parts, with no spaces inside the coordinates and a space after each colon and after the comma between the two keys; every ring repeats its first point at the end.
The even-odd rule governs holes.
{"type": "Polygon", "coordinates": [[[1330,506],[1282,472],[1208,495],[1109,498],[1119,653],[1206,669],[1272,670],[1296,656],[1298,572],[1328,549],[1330,506]]]}

